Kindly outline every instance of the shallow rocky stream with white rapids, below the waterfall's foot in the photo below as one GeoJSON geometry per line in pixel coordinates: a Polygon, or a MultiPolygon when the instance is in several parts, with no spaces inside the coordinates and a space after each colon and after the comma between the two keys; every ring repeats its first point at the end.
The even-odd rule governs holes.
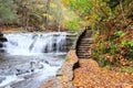
{"type": "Polygon", "coordinates": [[[39,88],[55,76],[64,55],[1,55],[0,88],[39,88]]]}

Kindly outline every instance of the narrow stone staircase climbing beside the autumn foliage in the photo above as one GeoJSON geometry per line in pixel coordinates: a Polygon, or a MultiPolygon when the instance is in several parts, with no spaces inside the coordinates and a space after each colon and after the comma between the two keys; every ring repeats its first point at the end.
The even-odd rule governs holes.
{"type": "Polygon", "coordinates": [[[79,58],[91,58],[92,31],[84,30],[76,42],[76,55],[79,58]]]}

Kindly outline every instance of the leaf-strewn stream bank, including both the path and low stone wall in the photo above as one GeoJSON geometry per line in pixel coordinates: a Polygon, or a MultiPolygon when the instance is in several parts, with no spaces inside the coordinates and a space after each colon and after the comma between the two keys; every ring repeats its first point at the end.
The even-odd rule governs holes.
{"type": "Polygon", "coordinates": [[[61,70],[65,72],[61,76],[57,75],[41,88],[133,88],[133,74],[122,73],[117,67],[101,68],[94,59],[79,59],[74,51],[70,51],[68,57],[61,67],[61,70]],[[76,65],[78,62],[80,67],[76,65]],[[71,69],[71,75],[66,73],[68,69],[71,69]],[[69,78],[72,80],[68,80],[69,78]]]}

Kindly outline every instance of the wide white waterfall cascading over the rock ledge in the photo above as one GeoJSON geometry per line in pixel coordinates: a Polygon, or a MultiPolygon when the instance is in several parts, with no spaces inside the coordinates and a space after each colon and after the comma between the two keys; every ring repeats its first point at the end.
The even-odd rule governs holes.
{"type": "Polygon", "coordinates": [[[2,47],[12,55],[65,53],[66,33],[13,33],[4,34],[8,42],[2,47]]]}

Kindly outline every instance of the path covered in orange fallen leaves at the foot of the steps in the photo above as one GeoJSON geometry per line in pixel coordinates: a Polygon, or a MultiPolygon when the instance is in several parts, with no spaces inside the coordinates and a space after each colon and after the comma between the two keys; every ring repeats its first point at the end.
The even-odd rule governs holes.
{"type": "Polygon", "coordinates": [[[93,59],[80,59],[74,69],[74,88],[133,88],[133,74],[100,68],[93,59]]]}

